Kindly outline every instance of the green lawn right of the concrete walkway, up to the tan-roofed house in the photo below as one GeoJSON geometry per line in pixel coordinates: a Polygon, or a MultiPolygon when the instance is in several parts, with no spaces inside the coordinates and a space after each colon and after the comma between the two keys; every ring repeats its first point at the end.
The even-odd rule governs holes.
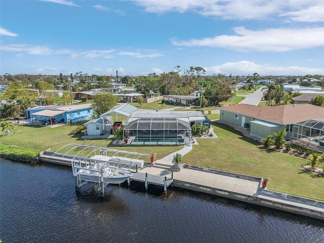
{"type": "Polygon", "coordinates": [[[198,139],[184,163],[236,173],[268,177],[270,190],[324,200],[324,178],[302,170],[306,159],[260,149],[259,142],[232,128],[212,123],[217,139],[198,139]]]}

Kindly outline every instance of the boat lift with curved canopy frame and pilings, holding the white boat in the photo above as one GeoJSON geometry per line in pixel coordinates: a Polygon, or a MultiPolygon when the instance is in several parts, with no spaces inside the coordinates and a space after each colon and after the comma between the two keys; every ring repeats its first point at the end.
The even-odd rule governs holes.
{"type": "Polygon", "coordinates": [[[142,156],[145,153],[124,150],[107,149],[96,146],[68,144],[57,150],[52,156],[71,158],[71,166],[75,178],[75,190],[88,182],[98,183],[101,196],[108,184],[120,184],[128,180],[133,174],[131,168],[143,167],[142,156]],[[67,152],[61,151],[71,147],[67,152]],[[71,158],[71,153],[77,151],[71,158]],[[120,156],[124,155],[124,156],[120,156]]]}

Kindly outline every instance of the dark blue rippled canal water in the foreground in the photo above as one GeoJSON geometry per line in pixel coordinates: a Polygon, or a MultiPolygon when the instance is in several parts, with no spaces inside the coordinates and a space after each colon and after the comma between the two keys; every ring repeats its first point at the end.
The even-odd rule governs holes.
{"type": "MultiPolygon", "coordinates": [[[[133,183],[133,182],[132,182],[133,183]]],[[[85,189],[87,188],[87,189],[85,189]]],[[[75,192],[71,168],[0,159],[7,242],[324,242],[324,221],[217,196],[132,184],[75,192]]]]}

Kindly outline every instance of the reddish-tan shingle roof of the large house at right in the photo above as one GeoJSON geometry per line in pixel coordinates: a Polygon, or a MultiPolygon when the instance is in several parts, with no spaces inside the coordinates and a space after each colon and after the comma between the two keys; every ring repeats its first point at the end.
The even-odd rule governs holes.
{"type": "Polygon", "coordinates": [[[236,104],[224,106],[220,110],[272,121],[277,124],[293,124],[308,119],[324,118],[324,108],[311,104],[278,106],[236,104]]]}

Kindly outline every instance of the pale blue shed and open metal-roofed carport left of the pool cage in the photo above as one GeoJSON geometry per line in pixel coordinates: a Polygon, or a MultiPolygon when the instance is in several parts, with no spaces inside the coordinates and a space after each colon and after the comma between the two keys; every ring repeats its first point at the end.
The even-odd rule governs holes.
{"type": "Polygon", "coordinates": [[[100,118],[90,120],[84,124],[87,127],[87,135],[98,136],[100,134],[109,134],[113,122],[122,121],[124,117],[126,117],[126,124],[128,124],[128,119],[130,118],[130,115],[136,109],[137,107],[127,103],[115,106],[114,108],[101,114],[100,118]]]}

